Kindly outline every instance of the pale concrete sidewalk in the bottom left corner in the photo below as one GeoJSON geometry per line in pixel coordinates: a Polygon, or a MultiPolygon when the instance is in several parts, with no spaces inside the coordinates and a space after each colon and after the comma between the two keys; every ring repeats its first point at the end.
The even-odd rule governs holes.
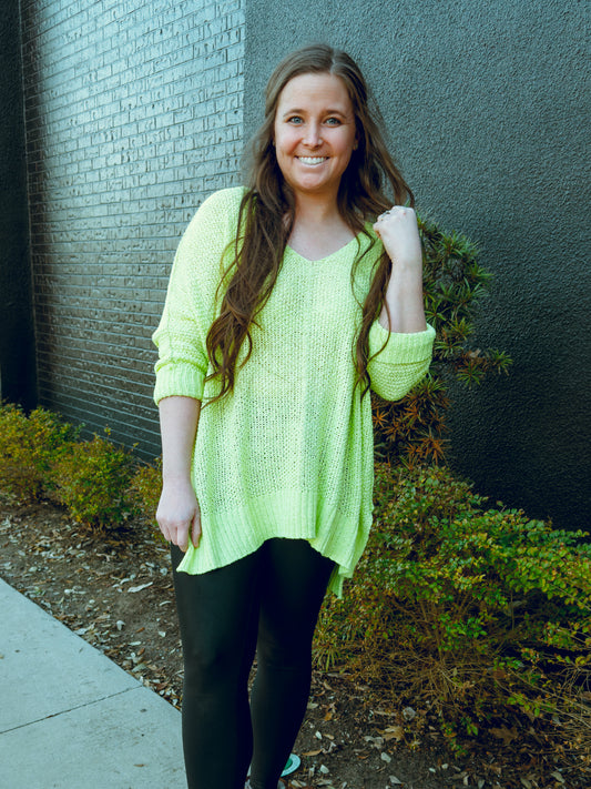
{"type": "Polygon", "coordinates": [[[181,714],[2,580],[0,787],[186,789],[181,714]]]}

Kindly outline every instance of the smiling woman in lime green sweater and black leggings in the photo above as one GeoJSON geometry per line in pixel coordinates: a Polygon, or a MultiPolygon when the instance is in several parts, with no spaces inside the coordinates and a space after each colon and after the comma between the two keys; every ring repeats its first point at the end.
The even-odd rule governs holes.
{"type": "Polygon", "coordinates": [[[247,188],[208,198],[179,246],[154,334],[156,517],[190,787],[242,789],[248,766],[252,789],[282,786],[324,594],[371,523],[368,388],[399,398],[430,361],[408,199],[358,67],[307,47],[269,80],[247,188]]]}

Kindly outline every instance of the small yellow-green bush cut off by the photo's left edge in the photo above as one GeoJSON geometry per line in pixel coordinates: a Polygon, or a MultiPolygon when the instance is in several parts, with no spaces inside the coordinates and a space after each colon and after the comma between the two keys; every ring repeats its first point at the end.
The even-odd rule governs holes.
{"type": "Polygon", "coordinates": [[[54,489],[52,469],[78,431],[44,408],[0,406],[0,493],[34,500],[54,489]]]}

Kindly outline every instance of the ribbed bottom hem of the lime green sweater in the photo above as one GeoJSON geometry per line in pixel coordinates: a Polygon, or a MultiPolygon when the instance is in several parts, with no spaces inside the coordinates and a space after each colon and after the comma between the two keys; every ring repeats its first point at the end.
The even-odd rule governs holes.
{"type": "Polygon", "coordinates": [[[190,544],[176,569],[201,575],[248,556],[267,539],[305,539],[337,565],[328,588],[340,597],[343,580],[353,576],[367,543],[371,515],[363,520],[319,502],[315,493],[282,490],[249,499],[237,510],[202,512],[198,547],[190,544]]]}

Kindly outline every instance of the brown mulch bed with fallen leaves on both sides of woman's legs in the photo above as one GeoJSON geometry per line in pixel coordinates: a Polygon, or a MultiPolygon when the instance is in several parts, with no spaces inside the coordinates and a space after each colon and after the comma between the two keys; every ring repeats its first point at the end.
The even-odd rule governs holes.
{"type": "MultiPolygon", "coordinates": [[[[51,503],[0,503],[0,575],[123,669],[180,707],[182,659],[169,548],[150,527],[101,533],[51,503]]],[[[408,736],[343,674],[314,672],[289,789],[583,789],[587,779],[511,741],[451,755],[435,727],[408,736]]]]}

